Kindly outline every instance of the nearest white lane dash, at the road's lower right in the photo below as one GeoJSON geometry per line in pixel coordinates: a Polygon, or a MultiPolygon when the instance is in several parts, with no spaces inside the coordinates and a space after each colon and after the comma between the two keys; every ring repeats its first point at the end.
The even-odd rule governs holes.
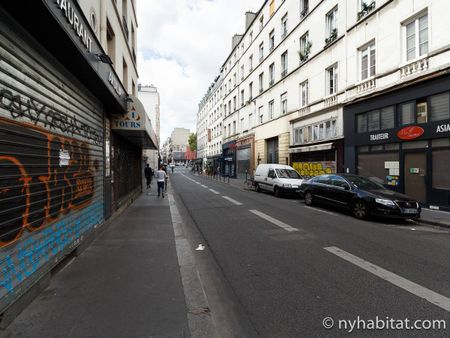
{"type": "Polygon", "coordinates": [[[395,273],[392,273],[388,270],[385,270],[375,264],[372,264],[362,258],[359,258],[357,256],[352,255],[351,253],[348,253],[344,250],[341,250],[335,246],[330,246],[324,248],[328,252],[331,252],[332,254],[346,260],[347,262],[350,262],[356,266],[359,266],[361,269],[364,269],[375,276],[380,277],[381,279],[384,279],[385,281],[388,281],[395,286],[398,286],[399,288],[402,288],[403,290],[406,290],[408,292],[411,292],[412,294],[416,295],[417,297],[423,298],[430,303],[439,306],[440,308],[450,312],[450,298],[447,298],[443,295],[440,295],[434,291],[431,291],[430,289],[427,289],[419,284],[416,284],[414,282],[411,282],[410,280],[403,278],[399,275],[396,275],[395,273]]]}

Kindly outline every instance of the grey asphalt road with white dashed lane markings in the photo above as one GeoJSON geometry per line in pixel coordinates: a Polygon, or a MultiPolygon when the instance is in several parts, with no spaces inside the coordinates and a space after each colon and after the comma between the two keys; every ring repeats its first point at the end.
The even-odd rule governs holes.
{"type": "Polygon", "coordinates": [[[170,184],[189,218],[191,245],[205,245],[195,255],[207,295],[208,283],[225,290],[208,295],[212,312],[225,313],[224,321],[227,311],[238,314],[230,325],[245,326],[242,332],[450,336],[450,231],[357,220],[185,168],[176,168],[170,184]],[[406,329],[414,325],[421,329],[406,329]]]}

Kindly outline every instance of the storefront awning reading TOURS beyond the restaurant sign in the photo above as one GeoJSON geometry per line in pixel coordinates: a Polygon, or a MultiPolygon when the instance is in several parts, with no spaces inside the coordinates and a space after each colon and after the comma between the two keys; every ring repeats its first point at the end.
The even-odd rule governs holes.
{"type": "Polygon", "coordinates": [[[111,129],[142,149],[158,149],[156,133],[141,101],[131,96],[128,113],[112,118],[111,129]]]}

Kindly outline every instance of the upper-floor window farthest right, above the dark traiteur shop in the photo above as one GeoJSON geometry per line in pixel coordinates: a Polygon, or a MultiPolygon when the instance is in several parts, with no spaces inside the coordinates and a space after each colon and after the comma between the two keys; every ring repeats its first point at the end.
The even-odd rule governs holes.
{"type": "Polygon", "coordinates": [[[428,14],[424,13],[404,25],[406,61],[428,53],[428,14]]]}

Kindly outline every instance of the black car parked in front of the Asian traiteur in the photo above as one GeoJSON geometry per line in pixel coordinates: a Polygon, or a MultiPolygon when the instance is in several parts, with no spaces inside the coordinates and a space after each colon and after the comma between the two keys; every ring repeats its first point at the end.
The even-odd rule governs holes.
{"type": "Polygon", "coordinates": [[[303,182],[300,192],[305,204],[330,203],[348,208],[353,216],[377,215],[392,218],[419,218],[420,204],[406,195],[389,190],[367,177],[330,174],[303,182]]]}

